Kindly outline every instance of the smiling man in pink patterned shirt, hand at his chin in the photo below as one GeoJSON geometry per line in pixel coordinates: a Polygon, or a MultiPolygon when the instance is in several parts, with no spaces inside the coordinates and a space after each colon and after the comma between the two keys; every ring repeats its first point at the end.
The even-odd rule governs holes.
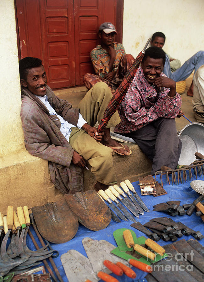
{"type": "Polygon", "coordinates": [[[120,107],[114,132],[131,137],[152,160],[154,174],[162,165],[175,169],[180,152],[175,118],[184,113],[176,82],[162,73],[166,54],[158,47],[145,51],[120,107]]]}

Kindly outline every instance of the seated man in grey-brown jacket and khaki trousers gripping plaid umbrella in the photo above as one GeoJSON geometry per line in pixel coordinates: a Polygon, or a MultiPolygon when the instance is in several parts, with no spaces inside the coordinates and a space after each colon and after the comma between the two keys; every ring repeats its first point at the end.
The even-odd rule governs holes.
{"type": "Polygon", "coordinates": [[[117,112],[104,133],[98,133],[94,127],[112,97],[108,86],[97,83],[82,99],[79,109],[73,109],[47,86],[40,59],[20,60],[19,71],[25,146],[30,154],[48,160],[55,187],[70,194],[83,190],[82,168],[86,162],[96,176],[96,190],[115,184],[112,152],[128,155],[130,150],[110,137],[109,128],[120,122],[117,112]]]}

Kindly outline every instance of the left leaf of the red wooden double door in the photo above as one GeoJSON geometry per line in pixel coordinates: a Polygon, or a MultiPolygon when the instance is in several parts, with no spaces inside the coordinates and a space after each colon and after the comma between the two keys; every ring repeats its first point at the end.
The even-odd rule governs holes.
{"type": "Polygon", "coordinates": [[[43,61],[48,85],[51,88],[74,86],[73,1],[40,1],[43,61]]]}

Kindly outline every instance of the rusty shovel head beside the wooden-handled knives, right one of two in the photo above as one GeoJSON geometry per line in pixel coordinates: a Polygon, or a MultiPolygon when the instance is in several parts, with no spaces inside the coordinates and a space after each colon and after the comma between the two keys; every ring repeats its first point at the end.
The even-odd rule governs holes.
{"type": "Polygon", "coordinates": [[[85,227],[97,231],[104,229],[111,221],[108,206],[100,199],[95,190],[65,194],[70,209],[85,227]]]}

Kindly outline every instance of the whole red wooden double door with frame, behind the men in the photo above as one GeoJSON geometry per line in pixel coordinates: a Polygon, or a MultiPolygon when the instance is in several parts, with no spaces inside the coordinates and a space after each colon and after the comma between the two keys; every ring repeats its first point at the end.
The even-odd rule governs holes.
{"type": "Polygon", "coordinates": [[[112,22],[122,42],[123,0],[15,0],[19,58],[42,59],[53,88],[82,85],[94,73],[90,51],[103,22],[112,22]]]}

